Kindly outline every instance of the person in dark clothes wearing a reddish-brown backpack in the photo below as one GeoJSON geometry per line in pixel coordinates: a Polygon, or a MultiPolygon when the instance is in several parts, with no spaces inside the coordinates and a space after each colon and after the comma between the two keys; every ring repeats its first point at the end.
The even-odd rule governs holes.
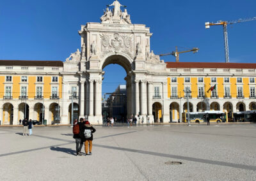
{"type": "Polygon", "coordinates": [[[76,139],[76,155],[82,156],[81,149],[83,147],[83,132],[81,131],[84,125],[84,119],[80,118],[80,122],[77,122],[77,119],[74,120],[73,126],[73,138],[76,139]],[[82,134],[82,135],[81,135],[82,134]]]}

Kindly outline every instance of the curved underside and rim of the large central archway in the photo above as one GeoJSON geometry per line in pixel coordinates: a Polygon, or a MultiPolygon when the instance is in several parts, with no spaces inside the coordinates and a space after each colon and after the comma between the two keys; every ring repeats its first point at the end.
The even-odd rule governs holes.
{"type": "Polygon", "coordinates": [[[132,59],[122,53],[106,55],[103,60],[104,61],[100,62],[101,69],[104,69],[109,64],[118,64],[122,66],[125,69],[126,73],[129,73],[133,69],[132,59]]]}

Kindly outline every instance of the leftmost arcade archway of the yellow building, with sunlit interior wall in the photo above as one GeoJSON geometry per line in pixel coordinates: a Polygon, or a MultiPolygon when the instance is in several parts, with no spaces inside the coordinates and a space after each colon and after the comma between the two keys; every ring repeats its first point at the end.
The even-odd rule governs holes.
{"type": "Polygon", "coordinates": [[[13,124],[13,105],[11,103],[4,103],[3,105],[3,120],[1,124],[13,124]]]}

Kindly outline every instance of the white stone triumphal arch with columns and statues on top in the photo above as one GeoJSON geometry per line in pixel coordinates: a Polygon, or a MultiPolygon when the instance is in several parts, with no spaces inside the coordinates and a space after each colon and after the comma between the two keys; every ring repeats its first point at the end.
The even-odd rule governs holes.
{"type": "Polygon", "coordinates": [[[102,69],[119,64],[127,73],[127,117],[138,117],[140,112],[143,119],[153,120],[152,105],[159,101],[163,105],[163,119],[166,115],[169,120],[163,98],[154,94],[157,85],[167,98],[167,79],[166,64],[150,50],[150,29],[144,24],[132,24],[125,6],[118,1],[107,5],[100,21],[81,25],[81,52],[77,49],[64,63],[64,90],[74,80],[74,74],[74,83],[79,80],[79,116],[90,122],[102,122],[102,69]]]}

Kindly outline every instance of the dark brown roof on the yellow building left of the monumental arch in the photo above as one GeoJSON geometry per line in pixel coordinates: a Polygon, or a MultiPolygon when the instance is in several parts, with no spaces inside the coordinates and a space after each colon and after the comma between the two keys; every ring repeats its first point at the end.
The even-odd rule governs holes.
{"type": "Polygon", "coordinates": [[[63,67],[63,62],[61,62],[61,61],[12,61],[12,60],[0,60],[0,66],[63,67]]]}

